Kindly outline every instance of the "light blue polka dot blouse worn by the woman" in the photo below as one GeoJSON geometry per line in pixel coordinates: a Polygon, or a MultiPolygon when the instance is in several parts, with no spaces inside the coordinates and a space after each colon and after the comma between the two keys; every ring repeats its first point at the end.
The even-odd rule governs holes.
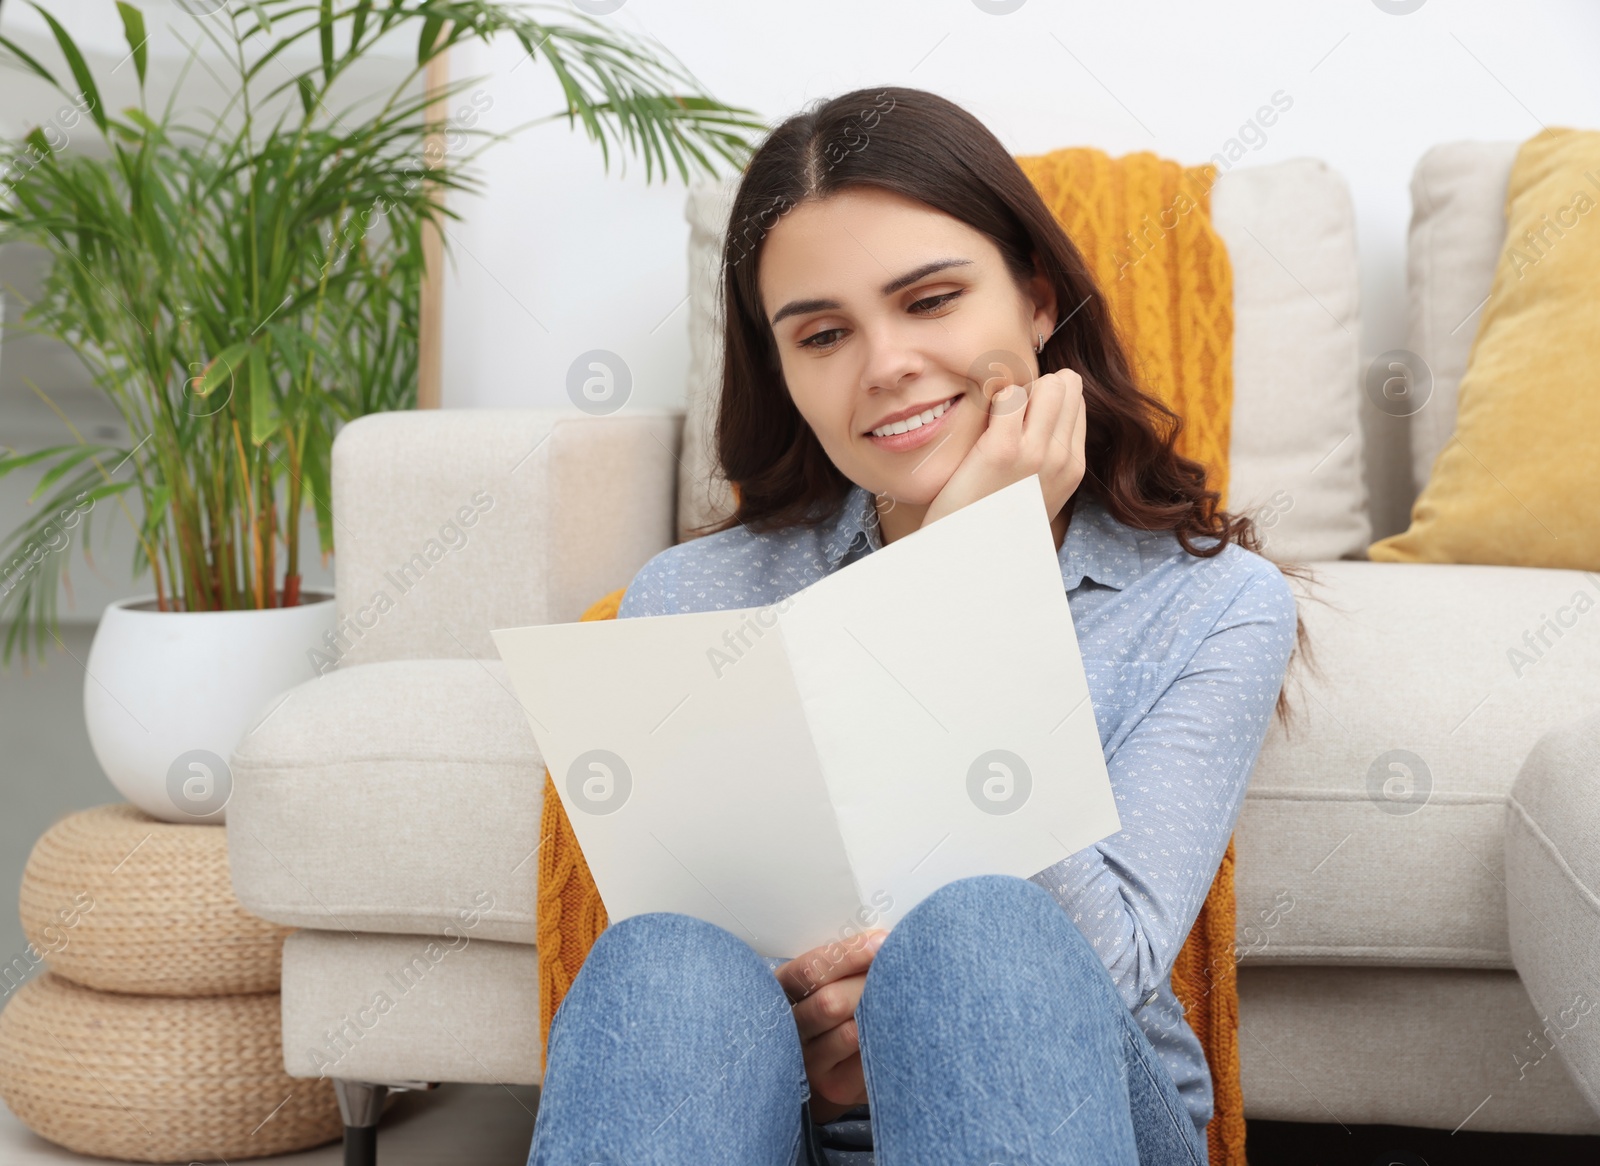
{"type": "MultiPolygon", "coordinates": [[[[634,576],[618,617],[776,603],[882,549],[872,497],[854,486],[811,528],[734,526],[669,547],[634,576]]],[[[1294,597],[1261,555],[1230,544],[1198,558],[1171,531],[1125,526],[1082,494],[1059,560],[1123,829],[1030,881],[1099,952],[1203,1129],[1211,1076],[1171,968],[1283,685],[1294,597]]]]}

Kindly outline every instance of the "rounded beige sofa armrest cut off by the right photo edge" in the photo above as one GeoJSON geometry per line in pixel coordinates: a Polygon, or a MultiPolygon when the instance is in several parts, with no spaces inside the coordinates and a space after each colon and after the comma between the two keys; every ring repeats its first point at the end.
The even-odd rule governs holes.
{"type": "Polygon", "coordinates": [[[1510,953],[1542,1028],[1522,1049],[1554,1048],[1600,1113],[1600,715],[1550,729],[1528,753],[1506,806],[1510,953]]]}

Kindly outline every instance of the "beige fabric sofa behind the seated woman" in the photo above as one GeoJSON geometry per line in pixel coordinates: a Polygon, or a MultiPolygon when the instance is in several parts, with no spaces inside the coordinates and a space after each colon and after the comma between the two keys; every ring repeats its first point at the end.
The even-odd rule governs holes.
{"type": "MultiPolygon", "coordinates": [[[[1291,672],[1298,721],[1274,723],[1237,830],[1253,1118],[1600,1132],[1600,1016],[1578,1003],[1600,1000],[1600,630],[1509,664],[1600,577],[1362,561],[1370,515],[1403,512],[1450,438],[1514,154],[1418,166],[1410,349],[1432,390],[1411,416],[1390,361],[1371,381],[1360,361],[1338,174],[1293,160],[1213,190],[1229,502],[1328,600],[1302,605],[1320,672],[1291,672]]],[[[243,904],[302,928],[288,1070],[347,1083],[352,1124],[376,1120],[373,1084],[539,1080],[542,765],[490,629],[578,619],[726,505],[707,433],[730,189],[686,203],[686,409],[379,414],[334,443],[336,667],[262,710],[227,833],[243,904]]]]}

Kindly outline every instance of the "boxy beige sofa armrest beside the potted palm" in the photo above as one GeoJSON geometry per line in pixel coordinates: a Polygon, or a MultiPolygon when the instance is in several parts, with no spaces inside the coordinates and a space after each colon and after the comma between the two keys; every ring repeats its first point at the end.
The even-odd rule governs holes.
{"type": "Polygon", "coordinates": [[[675,542],[683,413],[376,413],[333,443],[334,643],[318,669],[496,656],[675,542]]]}

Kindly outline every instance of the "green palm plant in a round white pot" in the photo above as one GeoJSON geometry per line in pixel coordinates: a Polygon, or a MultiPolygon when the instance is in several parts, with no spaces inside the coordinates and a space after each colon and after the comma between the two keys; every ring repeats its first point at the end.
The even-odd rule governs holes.
{"type": "Polygon", "coordinates": [[[333,627],[333,597],[301,590],[299,539],[310,507],[323,561],[336,545],[333,437],[414,406],[424,227],[459,218],[446,194],[477,189],[467,163],[509,136],[450,125],[478,147],[424,154],[446,130],[432,110],[478,80],[419,91],[429,62],[466,37],[514,35],[562,82],[566,107],[552,117],[581,118],[608,163],[608,136],[643,150],[646,181],[658,158],[666,176],[667,152],[685,181],[685,160],[712,174],[707,154],[739,165],[762,123],[702,94],[659,46],[582,13],[546,22],[478,0],[186,3],[197,43],[234,70],[230,99],[198,120],[174,114],[182,74],[150,109],[144,14],[117,3],[139,102],[112,112],[74,38],[34,8],[66,74],[6,37],[0,50],[67,99],[64,128],[106,149],[67,150],[70,134],[45,128],[0,144],[0,243],[48,253],[22,326],[77,352],[131,437],[88,441],[58,409],[70,441],[0,448],[0,477],[40,473],[37,517],[0,542],[0,662],[58,638],[72,534],[82,528],[86,552],[91,513],[114,507],[154,593],[110,605],[96,629],[90,739],[146,813],[221,821],[226,758],[277,694],[312,677],[310,649],[333,627]],[[330,109],[352,66],[405,29],[416,62],[387,99],[330,109]],[[296,53],[309,64],[291,64],[296,53]]]}

